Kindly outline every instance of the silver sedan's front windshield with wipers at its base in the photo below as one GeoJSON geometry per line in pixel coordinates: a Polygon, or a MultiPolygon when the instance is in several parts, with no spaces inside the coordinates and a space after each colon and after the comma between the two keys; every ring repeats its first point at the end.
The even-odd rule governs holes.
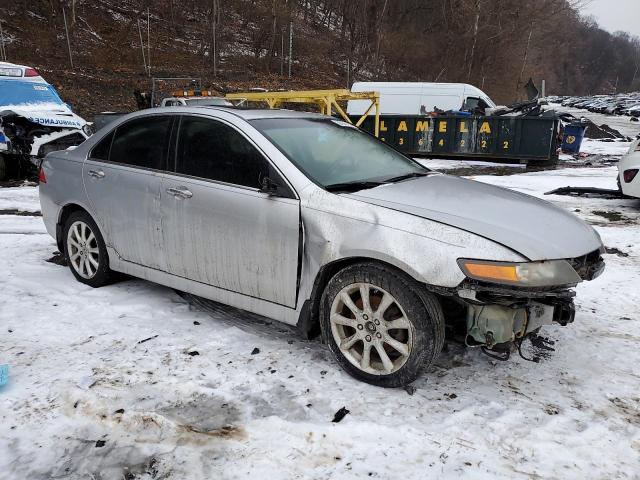
{"type": "Polygon", "coordinates": [[[328,190],[360,190],[430,173],[341,120],[269,118],[251,124],[305,175],[328,190]]]}

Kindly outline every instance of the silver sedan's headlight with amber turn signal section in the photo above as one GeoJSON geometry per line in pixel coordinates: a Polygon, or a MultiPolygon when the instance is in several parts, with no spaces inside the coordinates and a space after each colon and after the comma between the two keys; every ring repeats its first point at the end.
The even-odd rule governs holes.
{"type": "Polygon", "coordinates": [[[566,260],[511,263],[461,258],[458,265],[469,278],[505,285],[550,287],[582,281],[566,260]]]}

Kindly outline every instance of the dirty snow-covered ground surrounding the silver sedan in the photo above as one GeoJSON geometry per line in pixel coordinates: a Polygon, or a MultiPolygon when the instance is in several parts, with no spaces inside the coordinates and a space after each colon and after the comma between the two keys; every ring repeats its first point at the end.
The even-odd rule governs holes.
{"type": "MultiPolygon", "coordinates": [[[[615,175],[474,178],[544,197],[615,175]]],[[[545,198],[614,249],[575,323],[546,328],[538,364],[449,344],[413,395],[277,322],[141,280],[82,285],[46,261],[40,217],[0,215],[0,479],[640,478],[640,200],[545,198]]],[[[37,188],[0,189],[0,210],[37,211],[37,188]]]]}

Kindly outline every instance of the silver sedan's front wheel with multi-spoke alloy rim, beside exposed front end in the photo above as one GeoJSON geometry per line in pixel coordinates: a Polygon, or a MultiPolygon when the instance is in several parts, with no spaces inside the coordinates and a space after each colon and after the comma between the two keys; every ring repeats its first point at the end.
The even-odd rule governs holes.
{"type": "Polygon", "coordinates": [[[329,280],[320,326],[340,366],[379,387],[410,384],[444,345],[444,315],[435,296],[377,263],[348,266],[329,280]],[[363,302],[361,292],[366,298],[367,291],[369,301],[363,302]]]}

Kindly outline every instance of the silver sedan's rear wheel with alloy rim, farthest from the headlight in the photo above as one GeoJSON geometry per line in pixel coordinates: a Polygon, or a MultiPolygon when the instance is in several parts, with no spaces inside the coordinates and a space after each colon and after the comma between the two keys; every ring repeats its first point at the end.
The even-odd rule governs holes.
{"type": "Polygon", "coordinates": [[[96,222],[87,212],[69,215],[62,229],[62,244],[64,258],[76,280],[94,288],[112,282],[107,247],[96,222]]]}

